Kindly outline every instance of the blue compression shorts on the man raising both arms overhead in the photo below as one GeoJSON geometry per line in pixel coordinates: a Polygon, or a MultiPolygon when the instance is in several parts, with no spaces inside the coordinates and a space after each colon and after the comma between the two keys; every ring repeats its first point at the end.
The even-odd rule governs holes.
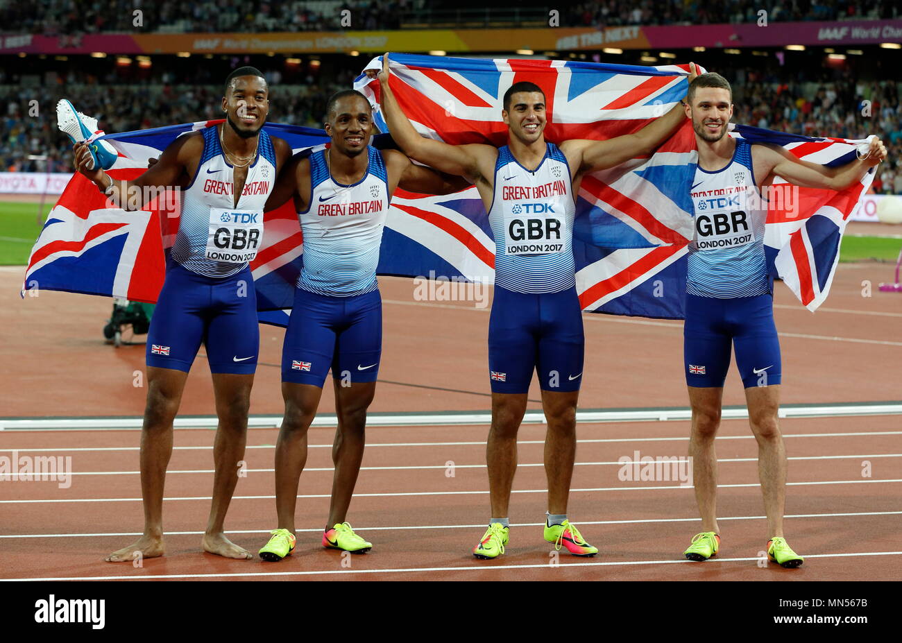
{"type": "Polygon", "coordinates": [[[583,381],[583,311],[576,288],[523,293],[496,285],[489,320],[493,393],[527,393],[532,372],[542,390],[579,390],[583,381]]]}

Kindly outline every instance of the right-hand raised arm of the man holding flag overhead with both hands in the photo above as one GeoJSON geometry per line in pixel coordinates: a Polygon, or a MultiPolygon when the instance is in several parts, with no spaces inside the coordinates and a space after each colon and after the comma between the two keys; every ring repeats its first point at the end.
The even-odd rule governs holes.
{"type": "MultiPolygon", "coordinates": [[[[691,83],[696,76],[698,70],[695,63],[690,62],[688,82],[691,83]]],[[[566,141],[561,143],[560,149],[575,174],[607,170],[637,156],[650,154],[685,122],[686,112],[683,105],[678,104],[637,133],[624,134],[607,141],[566,141]]]]}

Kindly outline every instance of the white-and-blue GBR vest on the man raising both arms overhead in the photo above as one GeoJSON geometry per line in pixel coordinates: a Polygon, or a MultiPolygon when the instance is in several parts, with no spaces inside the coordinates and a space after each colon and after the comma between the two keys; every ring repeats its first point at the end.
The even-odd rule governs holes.
{"type": "Polygon", "coordinates": [[[516,292],[559,292],[575,285],[570,168],[557,145],[547,145],[535,171],[520,165],[507,145],[495,163],[489,211],[495,283],[516,292]]]}

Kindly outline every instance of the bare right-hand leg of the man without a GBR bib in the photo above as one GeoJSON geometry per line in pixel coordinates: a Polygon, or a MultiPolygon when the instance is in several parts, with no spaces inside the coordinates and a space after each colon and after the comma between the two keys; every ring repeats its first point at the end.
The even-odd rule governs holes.
{"type": "Polygon", "coordinates": [[[347,517],[347,508],[351,505],[360,464],[364,459],[366,409],[373,402],[376,392],[374,381],[353,382],[350,386],[342,386],[338,379],[333,379],[333,382],[338,428],[332,446],[332,462],[336,470],[332,479],[327,529],[338,522],[345,522],[347,517]]]}

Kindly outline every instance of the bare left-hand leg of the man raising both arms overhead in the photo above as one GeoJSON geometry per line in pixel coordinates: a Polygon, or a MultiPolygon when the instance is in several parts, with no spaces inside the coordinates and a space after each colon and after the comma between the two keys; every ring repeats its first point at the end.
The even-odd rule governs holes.
{"type": "Polygon", "coordinates": [[[517,472],[517,431],[526,413],[527,393],[492,393],[492,428],[485,444],[492,518],[506,518],[513,474],[517,472]]]}

